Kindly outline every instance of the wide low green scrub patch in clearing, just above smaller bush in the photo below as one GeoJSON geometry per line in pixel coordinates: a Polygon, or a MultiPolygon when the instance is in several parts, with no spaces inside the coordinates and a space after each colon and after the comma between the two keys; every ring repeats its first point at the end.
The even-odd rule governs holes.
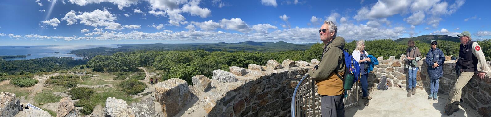
{"type": "Polygon", "coordinates": [[[51,76],[50,79],[46,80],[47,83],[55,84],[59,86],[64,86],[69,89],[72,87],[77,87],[78,84],[81,84],[79,76],[77,75],[57,75],[51,76]]]}

